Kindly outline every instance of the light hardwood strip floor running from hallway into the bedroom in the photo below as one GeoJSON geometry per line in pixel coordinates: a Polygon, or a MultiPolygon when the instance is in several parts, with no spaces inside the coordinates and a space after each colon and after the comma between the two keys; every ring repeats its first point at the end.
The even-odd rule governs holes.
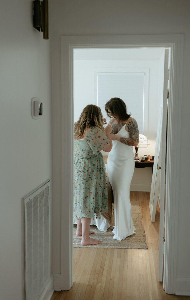
{"type": "Polygon", "coordinates": [[[159,206],[150,220],[149,192],[131,192],[139,201],[148,249],[73,248],[73,287],[51,300],[189,300],[168,295],[158,281],[159,206]]]}

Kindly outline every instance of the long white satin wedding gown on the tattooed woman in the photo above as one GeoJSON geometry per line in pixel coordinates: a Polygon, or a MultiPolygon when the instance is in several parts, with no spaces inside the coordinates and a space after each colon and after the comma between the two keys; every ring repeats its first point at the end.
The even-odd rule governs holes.
{"type": "MultiPolygon", "coordinates": [[[[129,138],[126,124],[116,134],[118,137],[129,138]]],[[[109,182],[114,193],[114,229],[113,238],[123,240],[135,233],[130,203],[130,184],[135,168],[133,147],[118,141],[112,141],[113,146],[108,154],[107,169],[109,182]]]]}

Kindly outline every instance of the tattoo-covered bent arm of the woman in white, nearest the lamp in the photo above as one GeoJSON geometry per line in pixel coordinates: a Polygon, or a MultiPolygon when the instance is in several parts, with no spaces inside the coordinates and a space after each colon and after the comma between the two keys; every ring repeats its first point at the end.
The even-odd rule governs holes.
{"type": "Polygon", "coordinates": [[[139,132],[138,125],[135,119],[131,119],[131,121],[127,125],[127,128],[129,129],[130,138],[127,139],[125,137],[121,137],[120,142],[129,146],[137,146],[139,141],[139,132]]]}

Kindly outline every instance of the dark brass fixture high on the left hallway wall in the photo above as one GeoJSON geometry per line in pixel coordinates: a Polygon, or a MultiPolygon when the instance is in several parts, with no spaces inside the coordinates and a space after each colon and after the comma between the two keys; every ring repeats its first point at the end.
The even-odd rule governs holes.
{"type": "Polygon", "coordinates": [[[33,26],[38,31],[43,32],[43,38],[49,39],[48,28],[48,0],[33,1],[33,26]]]}

